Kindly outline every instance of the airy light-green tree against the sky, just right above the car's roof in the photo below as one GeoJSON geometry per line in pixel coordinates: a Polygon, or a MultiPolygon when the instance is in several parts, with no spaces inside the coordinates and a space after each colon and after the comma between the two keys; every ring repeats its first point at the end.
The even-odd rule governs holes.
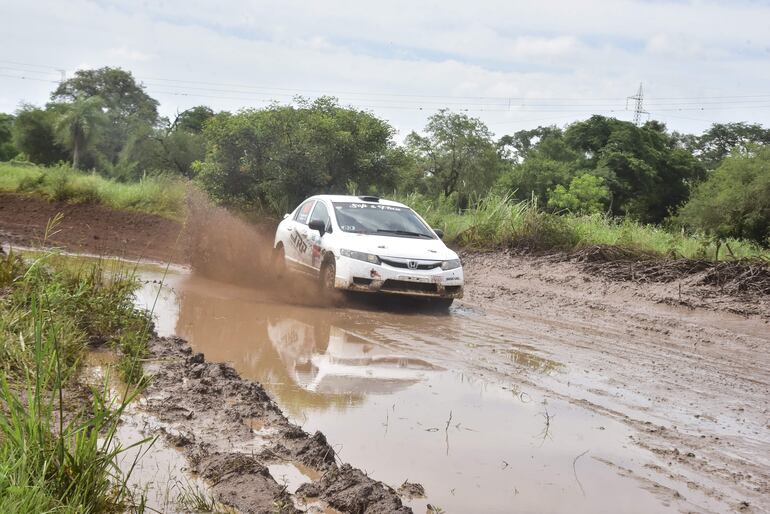
{"type": "Polygon", "coordinates": [[[492,133],[465,114],[440,110],[428,118],[425,136],[412,132],[406,144],[422,161],[432,189],[445,197],[486,193],[500,174],[492,133]]]}

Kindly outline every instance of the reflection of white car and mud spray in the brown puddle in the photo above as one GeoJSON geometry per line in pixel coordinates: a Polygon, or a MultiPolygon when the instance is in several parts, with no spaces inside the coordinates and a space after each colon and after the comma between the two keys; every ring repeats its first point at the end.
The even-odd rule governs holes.
{"type": "Polygon", "coordinates": [[[268,386],[292,415],[307,407],[345,409],[439,369],[333,325],[325,309],[267,303],[256,292],[221,284],[212,295],[211,284],[200,279],[176,285],[182,292],[174,333],[207,359],[231,362],[268,386]]]}

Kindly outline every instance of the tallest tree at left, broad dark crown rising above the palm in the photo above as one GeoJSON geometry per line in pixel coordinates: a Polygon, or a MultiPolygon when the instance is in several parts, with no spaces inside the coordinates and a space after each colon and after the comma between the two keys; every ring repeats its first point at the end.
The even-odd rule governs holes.
{"type": "Polygon", "coordinates": [[[102,99],[108,120],[101,131],[97,150],[107,164],[117,164],[131,133],[142,132],[158,123],[158,102],[145,93],[131,73],[109,67],[79,70],[51,94],[55,103],[73,103],[92,97],[102,99]]]}

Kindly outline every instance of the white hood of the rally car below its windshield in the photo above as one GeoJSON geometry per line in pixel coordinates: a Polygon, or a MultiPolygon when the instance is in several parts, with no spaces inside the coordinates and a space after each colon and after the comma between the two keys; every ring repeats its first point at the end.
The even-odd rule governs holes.
{"type": "Polygon", "coordinates": [[[457,254],[447,248],[440,239],[350,234],[340,241],[340,247],[380,257],[442,261],[457,259],[457,254]]]}

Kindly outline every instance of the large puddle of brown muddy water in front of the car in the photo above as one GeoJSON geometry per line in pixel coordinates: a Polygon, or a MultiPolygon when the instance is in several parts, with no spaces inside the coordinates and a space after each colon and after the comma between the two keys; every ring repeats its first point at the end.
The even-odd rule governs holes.
{"type": "MultiPolygon", "coordinates": [[[[405,500],[415,512],[710,505],[695,493],[663,494],[668,479],[650,463],[665,463],[635,445],[626,425],[531,386],[590,378],[502,315],[462,304],[448,315],[311,308],[178,269],[141,274],[137,302],[154,307],[160,335],[183,337],[207,360],[262,383],[292,421],[322,431],[341,460],[369,476],[394,488],[422,484],[425,498],[405,500]],[[521,376],[482,371],[493,366],[490,351],[521,376]]],[[[294,466],[271,472],[290,491],[314,478],[294,466]]]]}

